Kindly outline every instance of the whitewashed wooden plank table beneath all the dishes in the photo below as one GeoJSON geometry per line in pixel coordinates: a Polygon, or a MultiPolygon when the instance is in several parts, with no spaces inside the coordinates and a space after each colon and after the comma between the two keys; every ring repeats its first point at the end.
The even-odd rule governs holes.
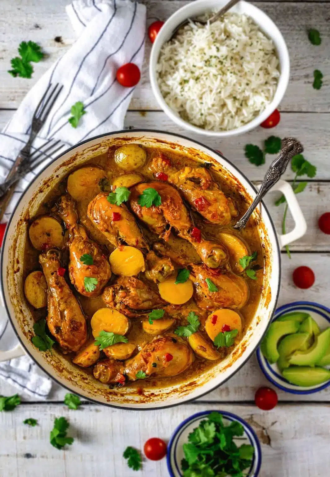
{"type": "MultiPolygon", "coordinates": [[[[0,7],[0,128],[10,118],[32,84],[74,41],[64,7],[68,0],[1,0],[0,7]],[[55,41],[55,37],[58,41],[55,41]],[[13,79],[7,73],[10,59],[16,56],[20,41],[33,40],[49,54],[35,64],[31,80],[13,79]],[[60,40],[60,41],[59,41],[60,40]]],[[[143,0],[149,23],[165,20],[188,3],[185,0],[143,0]]],[[[330,1],[258,1],[254,2],[279,26],[287,42],[291,74],[287,93],[280,105],[281,121],[276,129],[257,128],[233,139],[218,140],[180,130],[159,108],[148,79],[150,42],[142,79],[130,104],[127,126],[162,129],[193,137],[215,149],[241,169],[251,180],[264,176],[270,162],[256,167],[244,157],[246,143],[261,144],[269,135],[292,135],[305,148],[305,157],[318,167],[317,175],[300,194],[308,231],[290,249],[292,259],[282,252],[282,284],[279,305],[310,300],[330,306],[330,236],[317,227],[319,216],[330,210],[330,1]],[[317,28],[320,46],[312,46],[307,29],[317,28]],[[312,88],[313,70],[324,74],[320,91],[312,88]],[[291,274],[299,265],[310,266],[316,275],[310,290],[294,287],[291,274]]],[[[288,169],[286,179],[293,178],[288,169]]],[[[283,208],[267,199],[270,213],[280,230],[283,208]]],[[[292,224],[288,221],[288,229],[292,224]]],[[[280,402],[270,412],[260,411],[253,402],[255,391],[268,382],[255,356],[219,389],[192,404],[161,411],[120,411],[84,403],[78,411],[63,404],[65,390],[54,385],[48,402],[35,403],[22,396],[15,411],[0,413],[0,476],[2,477],[131,477],[167,476],[166,463],[144,462],[141,472],[132,472],[121,455],[127,445],[142,449],[151,436],[169,439],[171,431],[189,415],[204,409],[222,409],[247,419],[262,444],[262,477],[326,477],[330,475],[330,393],[325,390],[303,397],[278,392],[280,402]],[[50,446],[49,431],[55,416],[70,419],[75,442],[68,450],[50,446]],[[23,425],[27,417],[38,418],[35,428],[23,425]]],[[[0,381],[0,394],[16,389],[0,381]]]]}

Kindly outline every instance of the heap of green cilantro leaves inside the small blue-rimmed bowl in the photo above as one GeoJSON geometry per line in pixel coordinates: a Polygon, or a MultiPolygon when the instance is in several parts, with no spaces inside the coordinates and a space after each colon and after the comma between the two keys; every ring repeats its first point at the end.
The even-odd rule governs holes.
{"type": "Polygon", "coordinates": [[[225,426],[220,413],[210,413],[189,434],[188,443],[183,444],[183,477],[243,477],[243,470],[251,466],[254,453],[253,446],[238,447],[233,441],[234,436],[243,434],[239,422],[225,426]]]}

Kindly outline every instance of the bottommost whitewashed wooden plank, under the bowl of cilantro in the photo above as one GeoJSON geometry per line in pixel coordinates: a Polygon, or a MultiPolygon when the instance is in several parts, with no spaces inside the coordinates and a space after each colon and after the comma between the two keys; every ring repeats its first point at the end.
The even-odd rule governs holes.
{"type": "MultiPolygon", "coordinates": [[[[122,453],[126,446],[143,449],[152,437],[169,440],[174,429],[203,410],[229,411],[246,419],[256,431],[262,449],[262,477],[325,477],[329,461],[330,408],[327,405],[278,405],[270,412],[251,405],[189,404],[138,413],[84,405],[21,405],[0,414],[0,475],[6,477],[132,477],[122,453]],[[57,450],[49,433],[55,417],[70,421],[72,446],[57,450]],[[28,417],[39,425],[23,425],[28,417]],[[170,424],[170,425],[169,425],[170,424]]],[[[143,459],[141,477],[166,477],[166,459],[143,459]]]]}

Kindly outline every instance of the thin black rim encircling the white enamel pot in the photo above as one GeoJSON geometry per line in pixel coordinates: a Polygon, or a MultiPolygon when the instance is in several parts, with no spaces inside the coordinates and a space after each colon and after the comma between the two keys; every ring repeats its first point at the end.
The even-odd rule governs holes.
{"type": "Polygon", "coordinates": [[[272,218],[270,217],[270,213],[267,209],[267,207],[265,206],[264,202],[261,201],[261,204],[262,206],[264,207],[264,209],[266,210],[267,212],[267,215],[268,215],[268,218],[270,220],[270,225],[271,225],[271,228],[273,229],[273,233],[274,233],[274,236],[275,236],[275,239],[276,239],[276,248],[277,248],[277,252],[278,252],[278,257],[279,257],[279,262],[278,262],[278,267],[279,267],[279,280],[278,280],[278,289],[277,289],[277,294],[276,294],[276,299],[275,299],[275,302],[274,302],[274,309],[271,313],[271,316],[270,316],[270,319],[269,319],[269,322],[268,322],[268,325],[263,333],[263,335],[261,336],[260,338],[260,341],[258,342],[258,344],[254,347],[253,351],[249,354],[249,356],[247,356],[247,358],[240,364],[240,366],[228,377],[226,378],[224,381],[222,381],[222,383],[220,384],[216,384],[213,388],[211,388],[210,390],[206,391],[205,393],[202,393],[200,394],[198,397],[193,397],[193,398],[189,398],[189,399],[182,399],[180,401],[180,403],[176,403],[176,404],[168,404],[168,405],[163,405],[163,406],[159,406],[159,405],[154,405],[152,407],[148,407],[148,408],[139,408],[139,407],[127,407],[127,406],[120,406],[120,405],[116,405],[116,404],[110,404],[110,403],[103,403],[103,402],[100,402],[98,401],[97,399],[93,399],[93,398],[90,398],[90,397],[86,397],[84,396],[83,394],[80,394],[80,393],[77,393],[74,389],[70,388],[69,385],[67,384],[62,384],[57,378],[55,378],[51,373],[49,373],[48,371],[46,371],[43,366],[38,363],[38,361],[32,356],[32,354],[30,353],[30,351],[27,349],[27,347],[25,346],[24,342],[21,340],[20,336],[19,336],[19,333],[17,332],[16,330],[16,326],[14,325],[14,322],[12,321],[11,319],[11,316],[10,316],[10,312],[9,312],[9,308],[8,308],[8,305],[7,305],[7,301],[6,301],[6,298],[5,298],[5,292],[4,292],[4,286],[3,286],[3,256],[4,256],[4,244],[6,242],[6,239],[7,239],[7,234],[8,234],[8,229],[9,229],[9,226],[10,226],[10,223],[12,221],[12,218],[16,212],[16,209],[18,208],[18,206],[20,205],[20,202],[21,200],[24,198],[25,194],[27,193],[27,191],[30,189],[30,187],[37,181],[37,179],[39,178],[39,176],[51,165],[53,164],[55,161],[57,161],[61,156],[64,156],[65,154],[67,154],[68,152],[72,151],[73,149],[75,149],[76,147],[80,146],[80,145],[83,145],[83,144],[87,144],[89,143],[90,141],[94,141],[95,139],[100,139],[102,137],[105,137],[105,136],[111,136],[111,135],[117,135],[117,134],[131,134],[131,135],[134,135],[134,133],[157,133],[157,134],[162,134],[162,135],[168,135],[168,136],[176,136],[176,137],[180,137],[182,139],[185,139],[185,140],[188,140],[188,141],[191,141],[199,146],[202,146],[202,147],[205,147],[206,149],[210,149],[210,151],[212,151],[213,154],[215,154],[216,156],[220,156],[222,159],[224,159],[225,161],[227,161],[230,166],[232,166],[242,177],[244,177],[244,179],[247,181],[247,183],[250,185],[250,187],[252,187],[252,189],[257,193],[257,190],[256,188],[254,187],[254,185],[251,183],[251,181],[238,169],[238,167],[236,167],[234,164],[232,164],[232,162],[230,162],[225,156],[223,156],[222,154],[220,154],[218,151],[216,151],[215,149],[212,149],[211,147],[209,146],[206,146],[204,145],[203,143],[200,143],[199,141],[196,141],[195,139],[190,139],[189,137],[187,136],[184,136],[184,135],[180,135],[180,134],[177,134],[177,133],[169,133],[167,131],[160,131],[159,129],[121,129],[119,131],[113,131],[112,133],[106,133],[106,134],[101,134],[99,136],[94,136],[94,137],[91,137],[90,139],[86,139],[86,141],[82,141],[74,146],[71,146],[69,147],[68,149],[66,149],[64,152],[62,152],[59,156],[55,157],[55,159],[53,159],[50,163],[48,163],[45,167],[43,167],[43,169],[40,170],[40,172],[38,173],[37,176],[34,177],[34,179],[32,180],[32,182],[30,182],[29,186],[25,189],[25,191],[23,192],[23,194],[21,195],[20,199],[18,200],[14,210],[12,211],[11,213],[11,216],[10,216],[10,219],[7,223],[7,227],[6,227],[6,231],[5,231],[5,234],[4,234],[4,238],[3,238],[3,242],[2,242],[2,247],[1,247],[1,255],[0,255],[0,270],[1,270],[1,294],[2,294],[2,299],[3,299],[3,303],[5,305],[5,309],[7,311],[7,314],[8,314],[8,318],[9,318],[9,321],[10,321],[10,324],[21,344],[21,346],[23,347],[23,349],[25,350],[26,354],[28,356],[30,356],[30,358],[39,366],[39,368],[44,372],[46,373],[50,379],[52,379],[53,381],[55,381],[55,383],[59,384],[60,386],[64,387],[65,389],[67,389],[68,391],[71,391],[71,392],[74,392],[75,394],[77,394],[78,396],[80,396],[82,399],[85,399],[85,400],[88,400],[88,401],[91,401],[92,403],[95,403],[95,404],[102,404],[102,405],[105,405],[105,406],[108,406],[108,407],[114,407],[116,409],[125,409],[125,410],[128,410],[128,411],[154,411],[154,410],[157,410],[157,409],[166,409],[166,408],[169,408],[169,407],[175,407],[175,406],[179,406],[180,404],[188,404],[190,403],[191,401],[195,401],[196,399],[200,399],[201,397],[205,396],[206,394],[209,394],[211,393],[212,391],[214,391],[215,389],[217,389],[218,387],[220,387],[222,384],[225,384],[232,376],[234,376],[238,371],[240,371],[240,369],[244,366],[244,364],[250,359],[250,357],[252,356],[252,354],[257,350],[257,348],[259,347],[260,345],[260,342],[262,341],[263,337],[265,336],[267,330],[268,330],[268,327],[270,326],[270,323],[271,323],[271,319],[273,317],[273,314],[275,313],[275,310],[276,310],[276,305],[277,305],[277,302],[278,302],[278,299],[279,299],[279,294],[280,294],[280,278],[281,278],[281,267],[280,267],[280,244],[279,244],[279,240],[277,238],[277,232],[276,232],[276,229],[275,229],[275,226],[274,226],[274,223],[273,223],[273,220],[272,218]]]}

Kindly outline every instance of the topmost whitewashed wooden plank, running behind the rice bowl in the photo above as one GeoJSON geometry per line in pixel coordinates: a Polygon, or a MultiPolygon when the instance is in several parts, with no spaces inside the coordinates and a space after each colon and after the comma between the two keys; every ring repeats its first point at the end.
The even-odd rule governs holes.
{"type": "MultiPolygon", "coordinates": [[[[44,0],[42,5],[38,0],[2,2],[2,18],[6,21],[3,21],[0,32],[1,108],[16,108],[40,75],[72,45],[75,37],[65,13],[66,3],[67,0],[58,0],[57,2],[44,0]],[[54,41],[54,38],[59,36],[62,41],[54,41]],[[34,65],[35,73],[31,80],[12,78],[7,73],[7,70],[10,69],[10,59],[17,55],[20,41],[27,39],[39,42],[49,57],[34,65]]],[[[143,3],[147,6],[147,16],[152,21],[154,18],[166,20],[188,1],[144,0],[143,3]]],[[[257,2],[256,5],[276,22],[287,41],[290,52],[290,84],[281,104],[281,110],[329,111],[330,84],[326,78],[330,74],[327,53],[330,31],[327,24],[327,20],[329,20],[327,3],[265,1],[257,2]],[[322,43],[318,47],[311,45],[307,38],[306,30],[310,27],[318,28],[321,32],[322,43]],[[314,90],[311,85],[314,69],[322,70],[325,77],[320,91],[314,90]]],[[[160,109],[153,97],[149,83],[150,48],[150,41],[147,40],[142,79],[131,101],[131,109],[160,109]]]]}

